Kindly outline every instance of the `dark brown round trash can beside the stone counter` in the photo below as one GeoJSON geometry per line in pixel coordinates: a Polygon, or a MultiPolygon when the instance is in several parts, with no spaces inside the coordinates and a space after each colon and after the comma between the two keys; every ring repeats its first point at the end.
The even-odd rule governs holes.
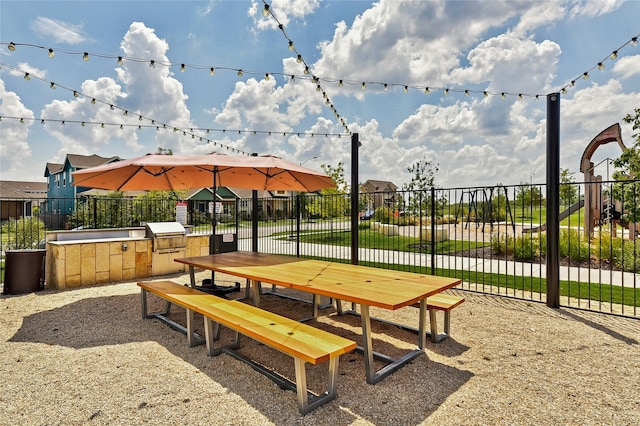
{"type": "Polygon", "coordinates": [[[4,294],[44,290],[46,250],[7,250],[4,258],[4,294]]]}

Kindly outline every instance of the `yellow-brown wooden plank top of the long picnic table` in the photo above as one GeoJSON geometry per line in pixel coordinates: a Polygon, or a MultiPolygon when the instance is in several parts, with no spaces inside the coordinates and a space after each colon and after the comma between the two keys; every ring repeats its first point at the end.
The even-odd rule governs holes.
{"type": "Polygon", "coordinates": [[[391,310],[460,283],[457,278],[243,251],[188,257],[176,262],[391,310]]]}

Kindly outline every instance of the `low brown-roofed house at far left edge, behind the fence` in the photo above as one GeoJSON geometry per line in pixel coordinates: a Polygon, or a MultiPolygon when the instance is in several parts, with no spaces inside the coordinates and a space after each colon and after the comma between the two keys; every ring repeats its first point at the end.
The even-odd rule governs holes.
{"type": "Polygon", "coordinates": [[[46,199],[46,182],[0,181],[0,220],[30,217],[46,199]]]}

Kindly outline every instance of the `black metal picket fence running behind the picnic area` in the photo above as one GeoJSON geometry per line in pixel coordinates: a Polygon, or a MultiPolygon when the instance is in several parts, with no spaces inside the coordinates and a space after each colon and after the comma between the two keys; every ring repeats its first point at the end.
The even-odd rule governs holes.
{"type": "MultiPolygon", "coordinates": [[[[544,302],[546,247],[557,244],[562,306],[640,317],[640,227],[634,223],[640,221],[640,182],[564,184],[560,194],[558,241],[548,241],[544,232],[544,185],[360,194],[358,262],[459,277],[465,290],[544,302]]],[[[7,202],[2,200],[3,212],[7,202]]],[[[176,218],[176,200],[30,202],[39,205],[30,216],[3,218],[3,253],[36,248],[45,229],[120,228],[176,218]],[[71,214],[56,208],[71,203],[71,214]]],[[[212,210],[189,204],[191,232],[211,233],[212,210]]],[[[216,212],[216,232],[237,233],[240,250],[257,243],[260,252],[351,262],[348,195],[261,198],[255,209],[243,199],[223,202],[216,212]]]]}

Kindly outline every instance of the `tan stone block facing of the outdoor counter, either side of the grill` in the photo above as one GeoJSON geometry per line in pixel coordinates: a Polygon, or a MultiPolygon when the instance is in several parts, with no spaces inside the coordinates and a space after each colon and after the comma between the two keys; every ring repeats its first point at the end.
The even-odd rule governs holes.
{"type": "MultiPolygon", "coordinates": [[[[150,277],[151,245],[150,238],[49,241],[45,282],[63,290],[150,277]]],[[[186,257],[206,254],[209,236],[187,235],[186,257]]]]}

